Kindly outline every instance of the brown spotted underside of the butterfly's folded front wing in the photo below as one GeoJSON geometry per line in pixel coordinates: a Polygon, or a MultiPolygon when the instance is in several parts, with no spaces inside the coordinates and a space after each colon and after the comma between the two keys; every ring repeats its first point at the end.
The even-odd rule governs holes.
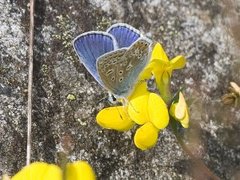
{"type": "Polygon", "coordinates": [[[129,95],[148,63],[150,44],[147,39],[140,38],[129,49],[119,49],[98,58],[99,75],[111,93],[117,97],[129,95]]]}

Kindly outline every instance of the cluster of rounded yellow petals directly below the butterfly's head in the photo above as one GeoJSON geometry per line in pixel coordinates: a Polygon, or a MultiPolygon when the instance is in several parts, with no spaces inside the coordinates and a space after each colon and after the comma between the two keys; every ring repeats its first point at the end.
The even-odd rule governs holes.
{"type": "Polygon", "coordinates": [[[146,82],[138,84],[128,100],[127,106],[101,110],[97,123],[118,131],[131,129],[134,122],[142,125],[135,133],[134,143],[141,150],[149,149],[156,144],[159,130],[169,123],[167,105],[159,95],[147,91],[146,82]]]}

